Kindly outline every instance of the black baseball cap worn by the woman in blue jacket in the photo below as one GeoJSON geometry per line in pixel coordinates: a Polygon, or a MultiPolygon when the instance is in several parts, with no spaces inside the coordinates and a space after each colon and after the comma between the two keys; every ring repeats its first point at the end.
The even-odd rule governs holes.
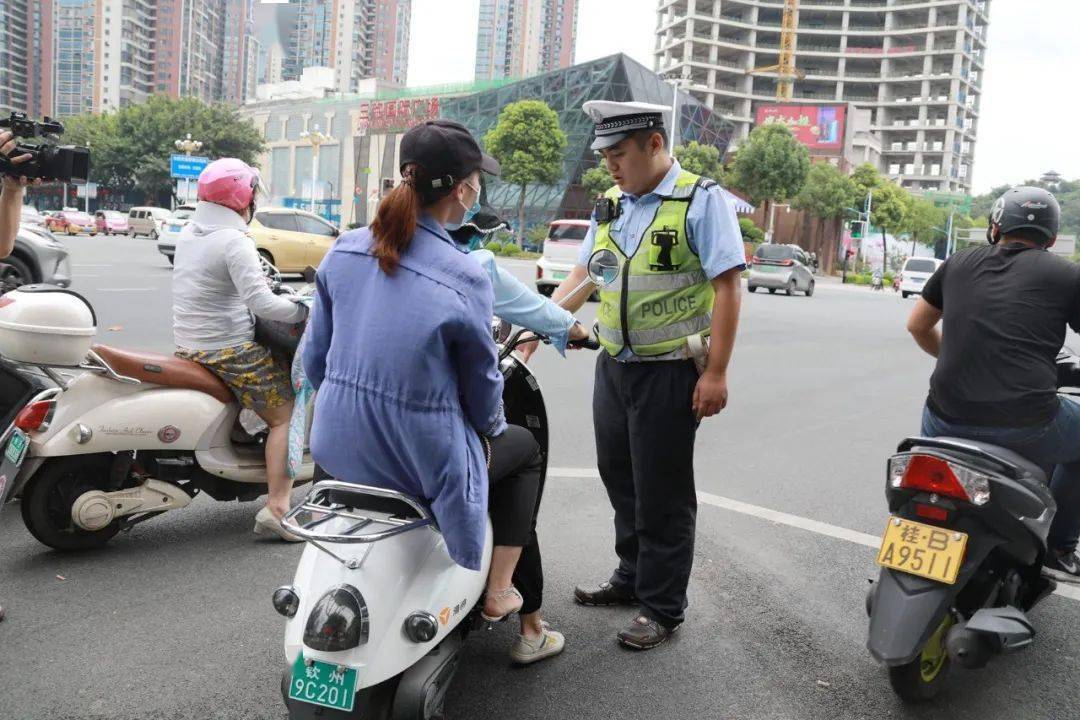
{"type": "Polygon", "coordinates": [[[401,169],[417,164],[431,176],[431,187],[449,188],[474,171],[501,172],[495,158],[484,153],[464,125],[453,120],[429,120],[402,138],[401,169]]]}

